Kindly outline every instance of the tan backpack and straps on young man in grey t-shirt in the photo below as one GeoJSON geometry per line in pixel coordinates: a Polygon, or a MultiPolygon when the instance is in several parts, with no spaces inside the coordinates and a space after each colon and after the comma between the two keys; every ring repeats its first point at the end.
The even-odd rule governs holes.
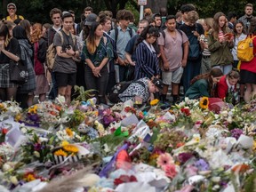
{"type": "MultiPolygon", "coordinates": [[[[58,33],[60,34],[60,38],[61,38],[61,44],[64,43],[64,39],[63,39],[63,34],[61,31],[58,31],[58,33]]],[[[71,34],[71,33],[69,33],[71,34]]],[[[73,45],[75,46],[76,44],[76,37],[74,35],[72,35],[72,41],[73,41],[73,45]]],[[[46,64],[47,64],[47,68],[51,69],[53,68],[54,66],[54,62],[55,62],[55,59],[56,59],[56,47],[55,45],[52,43],[50,44],[50,46],[48,47],[47,49],[47,52],[46,52],[46,64]]]]}

